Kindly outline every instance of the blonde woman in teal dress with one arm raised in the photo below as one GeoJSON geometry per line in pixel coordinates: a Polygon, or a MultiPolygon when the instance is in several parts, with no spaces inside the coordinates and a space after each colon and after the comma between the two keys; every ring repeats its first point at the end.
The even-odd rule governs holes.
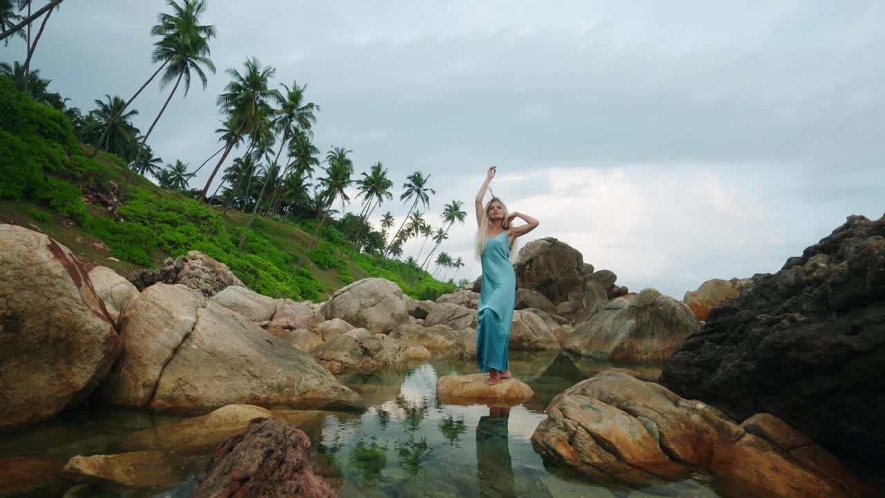
{"type": "Polygon", "coordinates": [[[476,194],[476,255],[482,262],[480,305],[476,311],[476,363],[483,373],[489,373],[489,385],[502,378],[511,378],[507,365],[507,345],[516,303],[516,238],[535,230],[538,221],[521,213],[507,213],[501,199],[492,197],[482,206],[496,167],[489,167],[485,183],[476,194]],[[527,224],[512,226],[521,218],[527,224]]]}

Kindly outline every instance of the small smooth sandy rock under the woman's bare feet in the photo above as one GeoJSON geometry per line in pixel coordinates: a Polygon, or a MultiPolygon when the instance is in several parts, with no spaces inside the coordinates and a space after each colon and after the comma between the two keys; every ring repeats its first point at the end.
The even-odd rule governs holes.
{"type": "Polygon", "coordinates": [[[489,385],[486,374],[448,375],[436,381],[436,396],[443,402],[458,404],[460,401],[527,401],[535,393],[526,383],[515,378],[504,378],[496,385],[489,385]]]}

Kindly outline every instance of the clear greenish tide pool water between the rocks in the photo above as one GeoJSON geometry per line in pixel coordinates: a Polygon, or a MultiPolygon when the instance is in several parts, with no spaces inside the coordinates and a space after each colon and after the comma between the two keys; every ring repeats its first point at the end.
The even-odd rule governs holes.
{"type": "MultiPolygon", "coordinates": [[[[574,362],[566,355],[512,353],[514,375],[535,391],[535,398],[512,409],[486,405],[456,406],[437,401],[436,379],[475,373],[472,361],[432,360],[408,370],[342,376],[360,393],[349,405],[329,406],[321,424],[304,427],[319,450],[321,474],[341,496],[560,496],[639,497],[717,496],[695,480],[644,489],[609,488],[574,478],[545,465],[529,439],[543,409],[557,393],[609,364],[574,362]],[[334,410],[334,413],[333,413],[334,410]]],[[[658,370],[641,370],[654,378],[658,370]]],[[[12,457],[34,456],[65,462],[73,455],[124,451],[130,432],[180,420],[150,411],[77,409],[27,429],[0,434],[0,496],[189,496],[208,455],[176,460],[181,483],[165,489],[99,492],[53,479],[30,492],[2,491],[12,457]]],[[[8,480],[8,479],[7,479],[8,480]]]]}

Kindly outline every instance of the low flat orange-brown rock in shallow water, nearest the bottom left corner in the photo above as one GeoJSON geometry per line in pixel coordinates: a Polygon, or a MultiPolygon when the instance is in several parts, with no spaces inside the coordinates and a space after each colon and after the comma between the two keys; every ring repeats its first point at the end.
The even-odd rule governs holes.
{"type": "Polygon", "coordinates": [[[181,468],[159,451],[77,455],[68,461],[61,473],[73,482],[110,489],[173,486],[185,479],[181,468]]]}

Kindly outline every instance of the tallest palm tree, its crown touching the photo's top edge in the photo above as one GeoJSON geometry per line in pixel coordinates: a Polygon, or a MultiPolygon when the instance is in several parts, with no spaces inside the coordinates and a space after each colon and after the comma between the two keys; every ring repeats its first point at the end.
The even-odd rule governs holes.
{"type": "MultiPolygon", "coordinates": [[[[203,13],[205,4],[203,0],[181,0],[182,5],[175,3],[175,0],[167,0],[167,4],[172,7],[173,14],[160,13],[158,16],[159,24],[150,29],[151,35],[161,36],[157,43],[154,43],[154,53],[152,61],[154,63],[165,61],[168,64],[160,79],[160,87],[164,88],[171,82],[175,82],[173,89],[169,92],[163,107],[154,122],[150,124],[148,133],[142,138],[142,146],[148,141],[150,133],[157,126],[157,122],[165,112],[166,107],[172,100],[175,91],[184,80],[184,95],[187,97],[190,89],[191,72],[196,73],[200,82],[203,83],[203,89],[208,83],[206,74],[203,70],[207,69],[215,72],[215,65],[209,58],[209,39],[215,36],[215,27],[212,25],[200,25],[199,17],[203,13]]],[[[138,160],[136,159],[137,163],[138,160]]],[[[132,182],[135,170],[130,169],[126,183],[120,189],[119,196],[111,208],[111,213],[117,211],[120,200],[126,195],[127,187],[132,182]]]]}

